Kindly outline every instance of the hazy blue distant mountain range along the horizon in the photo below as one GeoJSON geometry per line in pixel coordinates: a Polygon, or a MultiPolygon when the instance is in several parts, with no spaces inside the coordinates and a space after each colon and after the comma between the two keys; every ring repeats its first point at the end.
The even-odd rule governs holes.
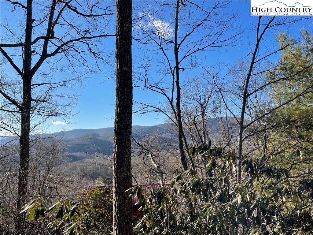
{"type": "MultiPolygon", "coordinates": [[[[215,118],[211,118],[208,123],[211,131],[216,133],[219,129],[219,122],[215,118]]],[[[113,127],[99,129],[73,129],[52,134],[41,134],[33,136],[33,138],[62,138],[63,144],[66,146],[68,156],[77,161],[86,158],[86,153],[96,154],[105,153],[112,154],[113,149],[113,127]]],[[[176,141],[176,134],[172,132],[169,123],[159,124],[155,126],[132,126],[132,137],[140,140],[148,134],[157,134],[160,139],[176,141]]],[[[4,144],[18,144],[17,136],[0,137],[1,146],[4,144]]]]}

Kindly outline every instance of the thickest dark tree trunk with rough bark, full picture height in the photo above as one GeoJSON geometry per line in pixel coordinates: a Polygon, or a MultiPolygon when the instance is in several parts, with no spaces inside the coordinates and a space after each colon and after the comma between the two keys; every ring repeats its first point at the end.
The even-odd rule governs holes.
{"type": "Polygon", "coordinates": [[[131,60],[132,1],[116,1],[116,104],[113,144],[113,234],[132,235],[131,188],[131,60]]]}

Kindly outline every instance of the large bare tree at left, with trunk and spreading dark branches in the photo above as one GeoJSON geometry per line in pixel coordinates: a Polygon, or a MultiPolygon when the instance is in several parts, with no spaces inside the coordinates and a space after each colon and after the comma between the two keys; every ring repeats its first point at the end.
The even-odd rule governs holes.
{"type": "Polygon", "coordinates": [[[5,19],[1,39],[1,54],[16,72],[14,80],[10,78],[13,82],[1,82],[0,93],[4,101],[1,111],[11,113],[20,126],[10,121],[1,123],[3,129],[19,136],[16,205],[19,210],[27,192],[31,130],[48,118],[71,115],[69,105],[75,98],[55,90],[72,86],[85,75],[84,71],[95,69],[89,57],[100,61],[99,42],[113,36],[103,33],[109,23],[107,17],[113,12],[103,2],[53,0],[6,4],[12,4],[13,14],[25,15],[16,28],[5,19]],[[64,70],[67,75],[62,79],[58,73],[64,70]],[[69,102],[62,100],[64,98],[69,98],[69,102]]]}

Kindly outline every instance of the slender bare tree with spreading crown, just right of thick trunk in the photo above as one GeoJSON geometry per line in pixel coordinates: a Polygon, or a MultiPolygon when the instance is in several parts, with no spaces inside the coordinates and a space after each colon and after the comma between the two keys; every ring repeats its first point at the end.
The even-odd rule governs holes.
{"type": "MultiPolygon", "coordinates": [[[[154,12],[150,9],[155,8],[148,6],[144,16],[142,12],[138,13],[135,22],[136,40],[141,43],[145,55],[140,58],[143,69],[136,86],[160,95],[164,100],[158,104],[136,102],[136,112],[161,112],[167,116],[177,128],[181,163],[183,169],[187,169],[185,150],[188,143],[182,126],[180,76],[184,70],[200,67],[203,61],[197,58],[197,53],[237,44],[239,32],[234,30],[233,34],[226,34],[236,29],[236,14],[221,13],[226,11],[225,2],[215,2],[209,7],[204,2],[190,1],[156,2],[156,6],[154,12]],[[172,18],[164,17],[165,9],[172,10],[172,18]],[[155,54],[153,59],[149,57],[149,52],[155,54]],[[150,71],[156,76],[151,76],[150,71]]],[[[194,168],[192,158],[189,161],[194,168]]]]}

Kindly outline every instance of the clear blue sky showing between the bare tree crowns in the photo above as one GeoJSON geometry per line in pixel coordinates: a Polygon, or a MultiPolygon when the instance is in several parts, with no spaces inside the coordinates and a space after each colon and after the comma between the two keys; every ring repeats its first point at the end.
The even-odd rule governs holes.
{"type": "MultiPolygon", "coordinates": [[[[135,6],[134,2],[133,5],[135,6]]],[[[205,5],[212,4],[213,1],[205,1],[205,5]]],[[[3,4],[1,1],[1,20],[3,21],[4,16],[9,18],[8,12],[6,11],[6,6],[8,4],[3,4]]],[[[206,66],[214,65],[217,63],[223,64],[232,64],[240,57],[244,57],[249,53],[249,50],[246,46],[249,44],[249,40],[253,41],[255,34],[253,34],[253,28],[248,29],[247,26],[251,26],[251,24],[256,23],[258,20],[257,16],[250,16],[250,1],[231,1],[228,5],[227,10],[234,10],[239,13],[239,17],[237,19],[237,24],[242,24],[242,29],[244,29],[244,33],[240,36],[241,45],[237,48],[228,47],[227,50],[225,48],[219,50],[211,50],[207,52],[199,53],[199,58],[205,60],[206,66]]],[[[112,19],[115,20],[115,17],[112,19]]],[[[167,21],[173,20],[171,18],[170,13],[166,12],[164,19],[167,21]]],[[[163,19],[163,20],[164,20],[163,19]]],[[[9,18],[9,20],[13,20],[9,18]]],[[[310,21],[313,21],[310,20],[310,21]]],[[[312,24],[308,21],[304,21],[294,25],[289,29],[290,33],[298,34],[301,28],[307,29],[307,26],[312,24]]],[[[281,27],[282,31],[285,31],[284,26],[281,27]]],[[[310,29],[312,33],[312,28],[310,29]]],[[[269,34],[267,38],[274,41],[275,35],[269,34]]],[[[114,51],[114,42],[115,38],[105,39],[105,48],[107,51],[114,51]]],[[[133,54],[141,53],[138,50],[138,44],[135,42],[133,44],[133,54]]],[[[135,56],[134,56],[135,59],[135,56]]],[[[134,66],[136,66],[134,64],[134,66]]],[[[103,68],[104,73],[109,73],[112,75],[112,66],[108,66],[107,68],[103,68]]],[[[188,70],[187,72],[181,73],[181,79],[184,79],[185,76],[192,76],[198,70],[188,70]]],[[[13,70],[9,66],[7,66],[8,74],[13,74],[13,70]]],[[[68,124],[65,123],[61,118],[53,118],[46,122],[46,127],[49,132],[54,132],[59,129],[76,129],[76,128],[104,128],[104,127],[112,127],[114,125],[114,110],[115,110],[115,81],[114,78],[106,79],[101,74],[89,74],[85,80],[85,85],[83,89],[81,87],[75,87],[74,90],[77,93],[81,93],[78,98],[78,102],[74,107],[73,112],[77,113],[71,119],[69,119],[68,124]],[[52,124],[54,123],[54,124],[52,124]]],[[[134,100],[137,101],[146,101],[149,102],[158,102],[160,96],[151,94],[147,91],[139,90],[138,88],[134,88],[133,93],[134,100]]],[[[156,113],[145,114],[143,116],[138,116],[136,114],[133,115],[133,125],[156,125],[164,122],[164,115],[156,115],[156,113]]]]}

